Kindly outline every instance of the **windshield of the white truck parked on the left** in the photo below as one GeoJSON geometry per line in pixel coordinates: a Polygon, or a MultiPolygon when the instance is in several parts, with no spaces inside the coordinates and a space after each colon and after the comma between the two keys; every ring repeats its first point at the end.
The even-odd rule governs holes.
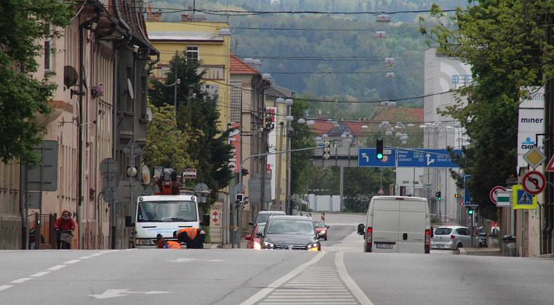
{"type": "Polygon", "coordinates": [[[139,202],[137,222],[190,222],[197,221],[194,201],[143,201],[139,202]]]}

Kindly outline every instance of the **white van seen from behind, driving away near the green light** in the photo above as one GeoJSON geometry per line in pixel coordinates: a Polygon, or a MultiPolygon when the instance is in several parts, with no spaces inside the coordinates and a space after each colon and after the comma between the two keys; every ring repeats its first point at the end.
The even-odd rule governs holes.
{"type": "Polygon", "coordinates": [[[364,251],[378,253],[429,253],[431,221],[427,199],[402,196],[371,198],[364,235],[364,251]]]}

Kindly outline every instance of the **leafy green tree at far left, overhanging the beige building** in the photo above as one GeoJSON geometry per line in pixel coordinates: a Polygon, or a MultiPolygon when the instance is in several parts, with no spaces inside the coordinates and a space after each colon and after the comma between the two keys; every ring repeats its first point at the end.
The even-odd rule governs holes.
{"type": "Polygon", "coordinates": [[[0,12],[0,158],[8,162],[20,157],[33,164],[33,147],[42,142],[45,130],[35,119],[50,114],[48,100],[56,88],[47,78],[33,78],[43,51],[37,42],[48,35],[59,37],[45,25],[67,26],[75,11],[66,1],[3,0],[0,12]]]}

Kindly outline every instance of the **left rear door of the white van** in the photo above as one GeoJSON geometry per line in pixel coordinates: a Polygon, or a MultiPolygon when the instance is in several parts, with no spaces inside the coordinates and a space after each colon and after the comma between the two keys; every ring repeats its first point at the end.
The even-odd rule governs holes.
{"type": "Polygon", "coordinates": [[[371,213],[373,225],[372,252],[398,252],[399,200],[379,198],[373,201],[371,213]]]}

